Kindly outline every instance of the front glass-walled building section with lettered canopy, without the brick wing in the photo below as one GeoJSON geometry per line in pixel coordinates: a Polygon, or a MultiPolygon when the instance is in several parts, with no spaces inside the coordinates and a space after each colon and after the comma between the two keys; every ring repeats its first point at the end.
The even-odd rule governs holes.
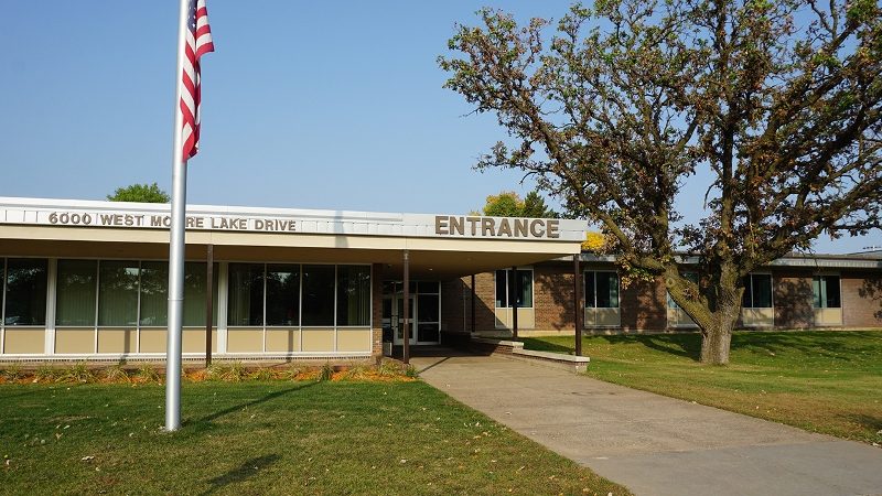
{"type": "MultiPolygon", "coordinates": [[[[0,198],[0,359],[164,358],[169,225],[168,204],[0,198]]],[[[369,358],[441,341],[443,281],[572,256],[585,227],[190,205],[183,357],[206,353],[209,273],[213,354],[369,358]]]]}

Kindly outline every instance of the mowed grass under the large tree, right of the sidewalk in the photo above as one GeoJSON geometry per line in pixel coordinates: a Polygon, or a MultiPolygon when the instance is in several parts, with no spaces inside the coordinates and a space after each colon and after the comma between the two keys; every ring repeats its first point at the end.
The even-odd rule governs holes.
{"type": "MultiPolygon", "coordinates": [[[[591,377],[882,443],[882,332],[736,332],[724,366],[698,363],[698,333],[583,339],[591,377]]],[[[528,349],[574,353],[571,337],[523,341],[528,349]]]]}

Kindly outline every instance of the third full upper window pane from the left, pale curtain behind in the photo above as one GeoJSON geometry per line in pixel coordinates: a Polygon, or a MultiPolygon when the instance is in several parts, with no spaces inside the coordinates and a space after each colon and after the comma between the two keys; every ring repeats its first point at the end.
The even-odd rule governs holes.
{"type": "Polygon", "coordinates": [[[138,324],[138,262],[101,261],[98,269],[98,325],[138,324]]]}

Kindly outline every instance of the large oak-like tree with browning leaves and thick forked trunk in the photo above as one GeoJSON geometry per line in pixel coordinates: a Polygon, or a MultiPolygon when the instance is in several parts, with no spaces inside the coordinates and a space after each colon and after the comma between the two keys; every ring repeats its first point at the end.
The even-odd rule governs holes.
{"type": "Polygon", "coordinates": [[[557,23],[478,12],[439,57],[502,141],[477,169],[512,168],[599,224],[625,282],[664,280],[724,364],[743,278],[790,250],[880,228],[875,0],[596,0],[557,23]],[[703,192],[685,181],[706,172],[703,192]],[[682,195],[706,217],[684,225],[682,195]],[[698,282],[681,254],[697,256],[698,282]]]}

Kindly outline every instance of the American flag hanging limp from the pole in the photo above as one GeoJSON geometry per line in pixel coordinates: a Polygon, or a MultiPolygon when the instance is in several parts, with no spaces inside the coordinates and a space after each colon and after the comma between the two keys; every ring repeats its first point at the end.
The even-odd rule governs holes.
{"type": "Polygon", "coordinates": [[[184,117],[182,132],[183,160],[194,157],[200,148],[200,57],[214,52],[212,29],[205,0],[190,0],[184,72],[181,75],[181,114],[184,117]]]}

